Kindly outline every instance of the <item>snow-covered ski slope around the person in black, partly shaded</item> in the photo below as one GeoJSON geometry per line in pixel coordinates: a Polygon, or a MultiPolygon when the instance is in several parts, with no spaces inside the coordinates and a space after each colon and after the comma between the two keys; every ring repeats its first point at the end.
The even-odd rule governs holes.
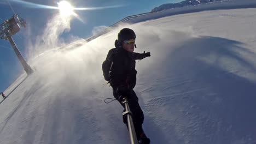
{"type": "Polygon", "coordinates": [[[152,53],[137,62],[135,88],[152,143],[255,143],[255,12],[169,16],[40,55],[0,104],[0,143],[129,143],[123,109],[103,102],[113,96],[101,71],[123,27],[136,52],[152,53]]]}

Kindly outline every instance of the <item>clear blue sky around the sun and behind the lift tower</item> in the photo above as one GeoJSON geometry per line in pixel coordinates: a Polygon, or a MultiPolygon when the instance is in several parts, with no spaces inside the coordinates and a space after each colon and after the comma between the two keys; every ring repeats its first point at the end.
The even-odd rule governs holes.
{"type": "MultiPolygon", "coordinates": [[[[78,19],[73,19],[71,22],[71,29],[69,32],[62,34],[62,37],[67,35],[74,35],[79,38],[88,38],[92,35],[92,29],[98,26],[110,26],[113,23],[123,19],[126,16],[136,15],[141,13],[147,13],[153,8],[158,7],[165,3],[176,3],[182,0],[158,0],[158,1],[125,1],[125,0],[88,0],[88,1],[68,1],[74,7],[106,7],[111,5],[123,5],[123,7],[98,9],[98,10],[81,10],[75,11],[84,22],[78,19]]],[[[57,7],[59,1],[26,1],[43,5],[51,5],[57,7]]],[[[44,26],[48,22],[48,19],[55,13],[58,13],[57,9],[38,9],[29,8],[26,4],[20,2],[9,1],[16,14],[19,14],[28,25],[31,34],[37,36],[42,33],[44,26]]],[[[6,0],[0,0],[0,21],[9,19],[13,15],[9,4],[6,0]]],[[[22,29],[18,34],[13,36],[13,39],[18,46],[21,54],[26,59],[26,46],[27,41],[33,41],[32,38],[26,37],[26,29],[22,29]]],[[[0,91],[4,91],[15,79],[21,74],[22,66],[15,55],[15,52],[11,48],[9,41],[0,39],[0,91]]]]}

